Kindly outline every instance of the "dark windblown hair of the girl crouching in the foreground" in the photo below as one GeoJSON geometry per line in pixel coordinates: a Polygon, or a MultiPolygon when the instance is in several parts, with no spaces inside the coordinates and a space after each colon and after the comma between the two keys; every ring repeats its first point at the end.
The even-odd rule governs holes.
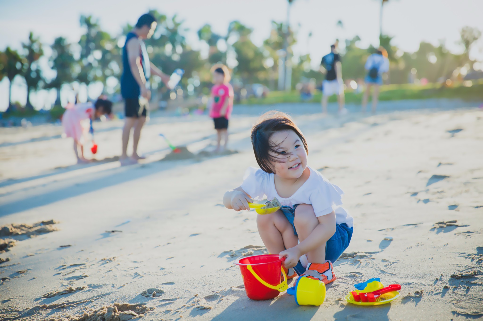
{"type": "Polygon", "coordinates": [[[282,112],[267,112],[260,117],[258,123],[252,128],[252,135],[250,136],[256,162],[264,172],[275,174],[272,164],[282,162],[282,157],[287,156],[287,154],[283,156],[280,154],[277,149],[278,145],[270,143],[271,135],[282,130],[295,131],[300,141],[302,141],[305,151],[309,154],[307,141],[305,141],[305,137],[292,118],[282,112]],[[270,154],[270,152],[277,156],[270,154]]]}

